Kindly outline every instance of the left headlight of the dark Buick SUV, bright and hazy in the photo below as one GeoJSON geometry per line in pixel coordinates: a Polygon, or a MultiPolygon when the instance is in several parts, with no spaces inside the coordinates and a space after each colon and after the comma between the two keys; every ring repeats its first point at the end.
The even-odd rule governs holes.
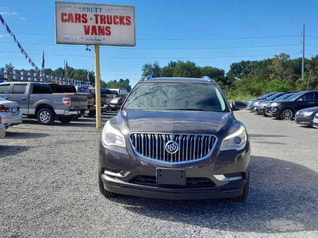
{"type": "Polygon", "coordinates": [[[116,145],[120,147],[126,147],[126,142],[123,134],[110,125],[108,120],[105,123],[103,131],[101,132],[101,140],[105,145],[116,145]]]}

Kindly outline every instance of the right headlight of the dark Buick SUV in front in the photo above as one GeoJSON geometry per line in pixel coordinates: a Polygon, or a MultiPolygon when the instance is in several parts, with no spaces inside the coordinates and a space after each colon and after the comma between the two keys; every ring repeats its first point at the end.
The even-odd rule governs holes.
{"type": "Polygon", "coordinates": [[[243,125],[222,140],[220,150],[241,150],[247,142],[247,132],[243,125]]]}

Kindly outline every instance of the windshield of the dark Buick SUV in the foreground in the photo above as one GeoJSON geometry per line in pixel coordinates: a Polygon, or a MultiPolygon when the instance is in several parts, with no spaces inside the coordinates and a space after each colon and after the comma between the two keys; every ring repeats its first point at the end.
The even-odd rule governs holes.
{"type": "Polygon", "coordinates": [[[213,84],[139,83],[123,109],[230,112],[213,84]]]}

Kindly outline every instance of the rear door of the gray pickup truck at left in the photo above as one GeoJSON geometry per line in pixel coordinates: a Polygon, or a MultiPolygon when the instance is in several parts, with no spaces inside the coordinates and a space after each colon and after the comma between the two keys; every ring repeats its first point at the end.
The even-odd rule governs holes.
{"type": "Polygon", "coordinates": [[[12,84],[8,100],[18,103],[22,114],[27,115],[29,113],[29,95],[28,95],[27,83],[14,83],[12,84]]]}

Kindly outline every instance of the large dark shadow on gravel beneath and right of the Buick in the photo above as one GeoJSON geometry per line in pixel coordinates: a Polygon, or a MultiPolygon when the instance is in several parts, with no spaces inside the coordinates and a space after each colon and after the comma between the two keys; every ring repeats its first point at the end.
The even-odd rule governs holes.
{"type": "Polygon", "coordinates": [[[250,173],[244,203],[133,196],[110,201],[141,216],[208,229],[256,233],[317,230],[317,172],[293,162],[252,157],[250,173]]]}

